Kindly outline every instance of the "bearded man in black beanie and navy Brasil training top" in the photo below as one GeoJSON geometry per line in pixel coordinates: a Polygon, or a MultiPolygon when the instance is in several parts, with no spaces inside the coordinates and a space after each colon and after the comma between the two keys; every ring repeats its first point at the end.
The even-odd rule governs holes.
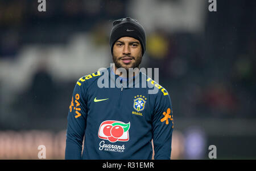
{"type": "Polygon", "coordinates": [[[131,18],[115,20],[110,48],[114,66],[83,76],[75,86],[65,159],[152,159],[152,139],[154,159],[170,159],[170,96],[141,71],[130,72],[139,69],[146,49],[141,24],[131,18]],[[151,87],[143,87],[143,80],[151,87]],[[159,91],[149,93],[152,87],[159,91]]]}

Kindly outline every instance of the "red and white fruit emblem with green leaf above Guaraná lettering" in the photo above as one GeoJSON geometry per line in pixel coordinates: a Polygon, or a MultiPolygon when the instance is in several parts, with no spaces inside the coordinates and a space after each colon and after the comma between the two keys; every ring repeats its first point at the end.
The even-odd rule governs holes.
{"type": "Polygon", "coordinates": [[[129,140],[130,122],[104,121],[98,129],[98,138],[107,139],[109,142],[127,142],[129,140]]]}

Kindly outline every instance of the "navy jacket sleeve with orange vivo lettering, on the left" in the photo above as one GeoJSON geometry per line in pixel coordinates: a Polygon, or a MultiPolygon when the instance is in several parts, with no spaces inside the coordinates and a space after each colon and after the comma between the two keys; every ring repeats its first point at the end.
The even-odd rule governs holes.
{"type": "Polygon", "coordinates": [[[68,110],[65,159],[81,159],[86,127],[87,107],[85,83],[77,82],[68,110]]]}

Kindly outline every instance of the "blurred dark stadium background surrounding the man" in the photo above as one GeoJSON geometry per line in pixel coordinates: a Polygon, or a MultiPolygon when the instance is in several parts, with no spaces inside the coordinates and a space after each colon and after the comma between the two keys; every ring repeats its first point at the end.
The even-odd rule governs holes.
{"type": "Polygon", "coordinates": [[[256,1],[0,1],[0,159],[64,159],[77,79],[109,67],[109,33],[130,16],[147,33],[174,111],[172,159],[256,159],[256,1]]]}

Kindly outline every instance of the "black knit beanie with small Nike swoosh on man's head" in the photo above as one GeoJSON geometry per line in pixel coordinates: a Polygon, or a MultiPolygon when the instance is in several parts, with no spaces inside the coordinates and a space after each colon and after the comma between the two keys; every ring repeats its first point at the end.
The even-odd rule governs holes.
{"type": "Polygon", "coordinates": [[[121,37],[133,37],[139,40],[142,46],[142,55],[146,50],[146,33],[141,24],[132,18],[122,18],[113,22],[113,28],[110,33],[109,44],[113,54],[113,46],[121,37]]]}

